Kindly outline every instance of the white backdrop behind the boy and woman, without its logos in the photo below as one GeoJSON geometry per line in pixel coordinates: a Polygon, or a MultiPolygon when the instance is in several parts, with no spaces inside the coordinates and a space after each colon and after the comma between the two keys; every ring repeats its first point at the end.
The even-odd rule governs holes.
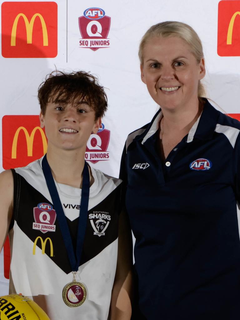
{"type": "MultiPolygon", "coordinates": [[[[232,0],[224,2],[230,4],[232,0]]],[[[127,134],[149,122],[158,108],[140,80],[138,45],[141,36],[151,25],[165,20],[182,21],[196,30],[204,46],[207,97],[227,113],[240,113],[240,58],[221,57],[217,53],[218,0],[58,0],[56,3],[58,54],[55,58],[0,57],[1,118],[4,115],[39,114],[37,88],[46,74],[55,67],[65,71],[80,69],[97,75],[108,95],[109,108],[103,123],[110,131],[107,148],[109,160],[99,161],[92,166],[109,175],[118,176],[127,134]],[[82,36],[78,18],[93,6],[103,9],[106,16],[111,18],[107,37],[109,47],[96,51],[79,47],[82,36]]],[[[240,11],[240,1],[235,3],[238,5],[238,10],[235,11],[240,11]]],[[[240,17],[236,17],[234,28],[240,33],[240,17]]],[[[240,46],[240,39],[238,45],[240,46]]],[[[2,140],[2,130],[0,139],[2,140]]],[[[1,161],[0,149],[0,163],[1,161]]],[[[1,165],[2,163],[0,169],[4,170],[1,165]]],[[[0,296],[8,292],[7,282],[3,274],[2,252],[0,296]]]]}

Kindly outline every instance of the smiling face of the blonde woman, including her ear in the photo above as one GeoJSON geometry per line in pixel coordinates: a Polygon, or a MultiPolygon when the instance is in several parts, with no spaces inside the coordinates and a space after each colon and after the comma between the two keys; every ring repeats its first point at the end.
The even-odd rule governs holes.
{"type": "Polygon", "coordinates": [[[205,75],[189,45],[178,37],[152,38],[143,48],[141,79],[163,109],[188,108],[197,102],[198,81],[205,75]]]}

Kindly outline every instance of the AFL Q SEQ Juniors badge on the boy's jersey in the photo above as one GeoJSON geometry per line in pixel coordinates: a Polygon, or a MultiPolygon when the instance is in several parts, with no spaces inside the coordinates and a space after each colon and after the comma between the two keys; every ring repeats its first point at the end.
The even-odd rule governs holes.
{"type": "Polygon", "coordinates": [[[47,231],[56,230],[54,225],[56,220],[56,211],[52,208],[51,204],[48,203],[39,203],[37,207],[33,208],[34,220],[33,229],[40,230],[43,233],[47,231]]]}

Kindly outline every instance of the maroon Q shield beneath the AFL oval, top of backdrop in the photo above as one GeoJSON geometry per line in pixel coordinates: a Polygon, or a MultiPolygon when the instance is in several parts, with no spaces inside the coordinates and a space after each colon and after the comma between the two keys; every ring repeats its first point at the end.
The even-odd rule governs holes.
{"type": "Polygon", "coordinates": [[[92,50],[97,50],[99,48],[105,48],[108,32],[110,29],[111,18],[104,16],[98,20],[87,19],[82,16],[78,18],[79,29],[83,39],[89,39],[89,42],[92,41],[91,46],[92,50]]]}

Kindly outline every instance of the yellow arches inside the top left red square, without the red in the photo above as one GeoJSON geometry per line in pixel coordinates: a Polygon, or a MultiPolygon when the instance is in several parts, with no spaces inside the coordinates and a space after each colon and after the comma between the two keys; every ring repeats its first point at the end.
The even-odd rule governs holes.
{"type": "Polygon", "coordinates": [[[47,27],[45,20],[43,16],[40,13],[35,13],[30,22],[28,21],[28,18],[24,13],[19,13],[12,25],[12,33],[11,33],[11,46],[16,45],[16,33],[17,33],[17,26],[18,26],[18,20],[20,17],[23,17],[24,22],[25,22],[25,27],[26,27],[26,33],[27,33],[27,43],[31,44],[32,43],[32,35],[33,35],[33,25],[36,17],[39,17],[41,24],[42,24],[42,30],[43,30],[43,45],[48,46],[48,34],[47,34],[47,27]]]}

